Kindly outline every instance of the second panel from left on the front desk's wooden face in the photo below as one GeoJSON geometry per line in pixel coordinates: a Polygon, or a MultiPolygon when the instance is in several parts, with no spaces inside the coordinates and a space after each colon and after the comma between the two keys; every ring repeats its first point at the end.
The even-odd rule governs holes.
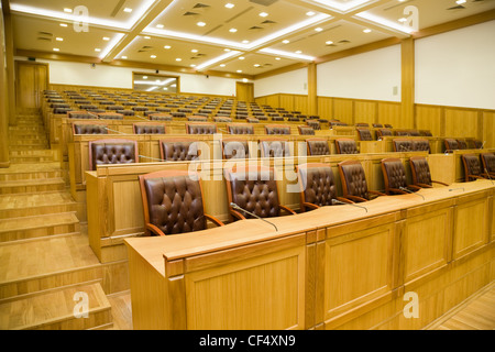
{"type": "MultiPolygon", "coordinates": [[[[348,227],[349,233],[331,238],[324,250],[324,319],[391,293],[395,224],[348,227]],[[361,230],[361,231],[360,231],[361,230]]],[[[332,235],[332,228],[327,230],[332,235]]]]}

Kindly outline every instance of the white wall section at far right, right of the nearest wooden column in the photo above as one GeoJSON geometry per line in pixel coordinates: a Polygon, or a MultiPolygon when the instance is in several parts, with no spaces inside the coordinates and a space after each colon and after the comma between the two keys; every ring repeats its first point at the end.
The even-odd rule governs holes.
{"type": "Polygon", "coordinates": [[[416,41],[416,103],[495,109],[495,21],[416,41]]]}

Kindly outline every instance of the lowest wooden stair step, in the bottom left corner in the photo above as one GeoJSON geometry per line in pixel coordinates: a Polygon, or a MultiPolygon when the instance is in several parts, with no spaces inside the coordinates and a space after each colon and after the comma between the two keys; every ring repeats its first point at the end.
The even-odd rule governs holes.
{"type": "Polygon", "coordinates": [[[0,305],[2,330],[86,330],[112,324],[100,284],[77,285],[0,305]],[[78,296],[79,295],[79,296],[78,296]],[[86,302],[86,309],[77,306],[86,302]],[[87,317],[76,315],[86,312],[87,317]]]}

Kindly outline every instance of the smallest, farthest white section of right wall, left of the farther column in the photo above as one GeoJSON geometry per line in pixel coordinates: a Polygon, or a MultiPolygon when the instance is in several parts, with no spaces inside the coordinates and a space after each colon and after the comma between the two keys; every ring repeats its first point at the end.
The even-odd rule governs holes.
{"type": "Polygon", "coordinates": [[[254,81],[255,98],[275,94],[307,95],[308,69],[299,68],[254,81]]]}

